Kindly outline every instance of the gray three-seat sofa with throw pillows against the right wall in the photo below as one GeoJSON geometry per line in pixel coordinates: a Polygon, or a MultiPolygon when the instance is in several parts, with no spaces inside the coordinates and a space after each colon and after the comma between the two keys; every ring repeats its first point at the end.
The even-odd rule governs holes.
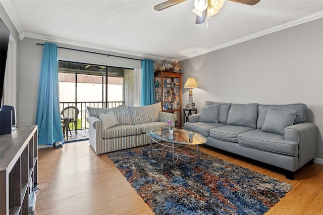
{"type": "Polygon", "coordinates": [[[205,144],[286,170],[286,178],[316,153],[316,126],[306,122],[305,104],[263,105],[206,101],[189,116],[187,130],[207,138],[205,144]]]}

